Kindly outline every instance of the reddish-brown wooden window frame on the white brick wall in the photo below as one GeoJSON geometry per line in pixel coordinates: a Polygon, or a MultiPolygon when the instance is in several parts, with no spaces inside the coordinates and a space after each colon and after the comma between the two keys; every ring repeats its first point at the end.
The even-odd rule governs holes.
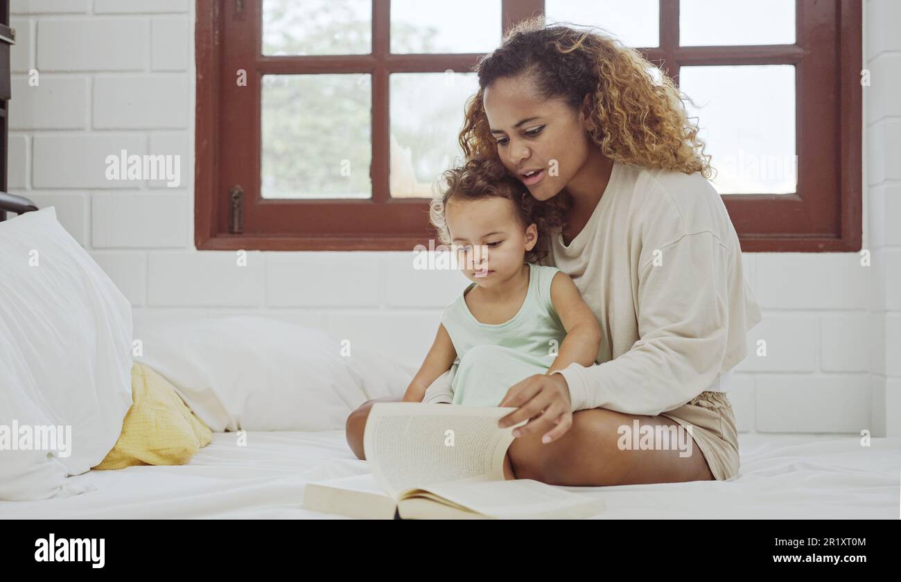
{"type": "MultiPolygon", "coordinates": [[[[197,249],[412,250],[427,244],[433,236],[428,200],[388,192],[388,75],[469,72],[480,55],[390,54],[390,1],[373,0],[371,54],[264,56],[261,5],[197,0],[197,249]],[[239,68],[247,71],[248,86],[235,83],[239,68]],[[371,75],[371,198],[259,196],[261,77],[305,73],[371,75]]],[[[543,0],[502,0],[504,29],[543,9],[543,0]]],[[[660,46],[642,49],[677,82],[683,66],[796,67],[797,192],[724,196],[742,250],[860,250],[860,0],[796,0],[792,45],[680,47],[678,11],[678,0],[660,0],[660,46]]]]}

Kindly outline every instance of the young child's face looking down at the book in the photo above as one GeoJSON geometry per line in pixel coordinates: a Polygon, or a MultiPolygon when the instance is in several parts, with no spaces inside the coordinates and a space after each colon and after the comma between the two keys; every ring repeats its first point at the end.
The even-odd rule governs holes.
{"type": "Polygon", "coordinates": [[[497,286],[514,277],[523,268],[525,252],[538,241],[537,226],[523,228],[513,204],[506,198],[483,198],[451,200],[445,208],[460,269],[479,286],[497,286]]]}

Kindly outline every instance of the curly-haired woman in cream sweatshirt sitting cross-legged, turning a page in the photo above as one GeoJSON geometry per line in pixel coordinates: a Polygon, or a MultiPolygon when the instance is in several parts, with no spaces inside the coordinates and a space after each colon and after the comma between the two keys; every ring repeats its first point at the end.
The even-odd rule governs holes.
{"type": "MultiPolygon", "coordinates": [[[[760,308],[705,179],[697,127],[678,89],[651,68],[613,39],[541,18],[478,63],[460,145],[468,158],[499,159],[535,199],[567,208],[543,262],[572,277],[604,336],[600,365],[510,387],[500,405],[516,410],[500,425],[531,419],[508,450],[517,478],[604,486],[738,473],[724,389],[760,308]],[[694,448],[652,438],[677,432],[694,448]]],[[[454,371],[423,402],[447,402],[454,371]]],[[[360,459],[373,402],[347,423],[360,459]]]]}

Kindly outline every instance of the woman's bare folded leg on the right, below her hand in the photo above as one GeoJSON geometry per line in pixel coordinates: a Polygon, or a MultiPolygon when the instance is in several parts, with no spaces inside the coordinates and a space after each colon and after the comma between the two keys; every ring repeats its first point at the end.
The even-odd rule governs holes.
{"type": "MultiPolygon", "coordinates": [[[[691,454],[679,450],[621,450],[620,426],[678,423],[666,416],[622,414],[605,408],[573,413],[572,426],[558,440],[542,442],[543,432],[514,439],[507,450],[517,478],[531,478],[550,485],[598,487],[640,483],[675,483],[712,480],[704,454],[691,441],[691,454]]],[[[685,435],[688,436],[687,434],[685,435]]]]}

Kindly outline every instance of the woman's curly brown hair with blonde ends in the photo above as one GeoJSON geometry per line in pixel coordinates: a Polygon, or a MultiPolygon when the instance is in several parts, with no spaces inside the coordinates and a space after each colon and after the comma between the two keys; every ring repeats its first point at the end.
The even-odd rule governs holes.
{"type": "Polygon", "coordinates": [[[710,156],[697,137],[681,94],[668,76],[637,51],[596,29],[545,26],[543,16],[518,23],[501,45],[478,60],[478,93],[469,98],[460,147],[469,158],[497,158],[483,95],[501,77],[527,74],[546,99],[562,97],[577,111],[591,95],[587,129],[601,152],[616,161],[711,177],[710,156]]]}

